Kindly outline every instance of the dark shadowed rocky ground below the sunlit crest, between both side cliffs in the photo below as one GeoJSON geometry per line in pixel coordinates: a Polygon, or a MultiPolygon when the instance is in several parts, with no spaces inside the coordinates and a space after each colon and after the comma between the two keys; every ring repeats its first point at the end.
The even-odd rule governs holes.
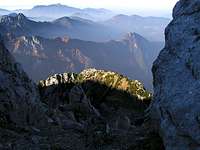
{"type": "Polygon", "coordinates": [[[74,140],[60,141],[54,145],[57,149],[64,149],[66,145],[76,149],[73,145],[77,143],[84,150],[164,149],[160,137],[145,122],[149,98],[141,100],[127,91],[93,80],[46,87],[39,85],[39,90],[41,100],[49,107],[52,123],[73,133],[70,138],[74,140]],[[63,116],[58,117],[58,113],[63,116]]]}

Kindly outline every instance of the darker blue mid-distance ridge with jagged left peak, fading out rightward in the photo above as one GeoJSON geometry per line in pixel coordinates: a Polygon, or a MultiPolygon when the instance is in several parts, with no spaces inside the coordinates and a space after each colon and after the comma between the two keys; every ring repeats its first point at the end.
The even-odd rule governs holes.
{"type": "Polygon", "coordinates": [[[16,36],[35,35],[46,38],[70,36],[88,41],[106,41],[117,35],[117,32],[112,31],[111,28],[84,19],[62,17],[53,22],[36,22],[22,13],[16,16],[1,16],[0,26],[1,34],[12,33],[16,36]],[[110,36],[109,31],[114,34],[110,36]]]}

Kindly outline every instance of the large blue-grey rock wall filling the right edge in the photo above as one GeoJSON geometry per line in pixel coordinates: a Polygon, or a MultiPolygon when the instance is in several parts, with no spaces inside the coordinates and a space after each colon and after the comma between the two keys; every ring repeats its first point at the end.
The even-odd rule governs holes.
{"type": "Polygon", "coordinates": [[[180,0],[153,65],[151,118],[166,150],[200,149],[200,1],[180,0]]]}

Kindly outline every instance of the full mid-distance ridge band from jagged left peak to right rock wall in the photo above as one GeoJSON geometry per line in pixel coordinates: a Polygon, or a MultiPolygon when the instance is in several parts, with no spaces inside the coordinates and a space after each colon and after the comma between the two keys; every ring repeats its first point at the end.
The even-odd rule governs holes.
{"type": "Polygon", "coordinates": [[[157,17],[118,15],[106,22],[93,22],[76,16],[65,16],[52,22],[36,22],[19,13],[1,16],[0,26],[4,29],[1,31],[0,28],[0,31],[3,34],[14,32],[17,35],[36,35],[46,38],[69,36],[96,42],[118,40],[125,33],[136,32],[145,38],[148,37],[148,40],[163,41],[164,27],[168,21],[157,17]]]}

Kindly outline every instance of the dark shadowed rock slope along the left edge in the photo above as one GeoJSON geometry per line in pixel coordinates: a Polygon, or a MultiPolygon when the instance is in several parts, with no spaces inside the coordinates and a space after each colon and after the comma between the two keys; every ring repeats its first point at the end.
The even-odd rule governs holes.
{"type": "Polygon", "coordinates": [[[27,134],[31,137],[32,132],[39,132],[46,125],[45,120],[37,86],[1,42],[0,149],[12,149],[13,144],[17,148],[20,142],[29,147],[32,143],[26,139],[27,134]]]}

